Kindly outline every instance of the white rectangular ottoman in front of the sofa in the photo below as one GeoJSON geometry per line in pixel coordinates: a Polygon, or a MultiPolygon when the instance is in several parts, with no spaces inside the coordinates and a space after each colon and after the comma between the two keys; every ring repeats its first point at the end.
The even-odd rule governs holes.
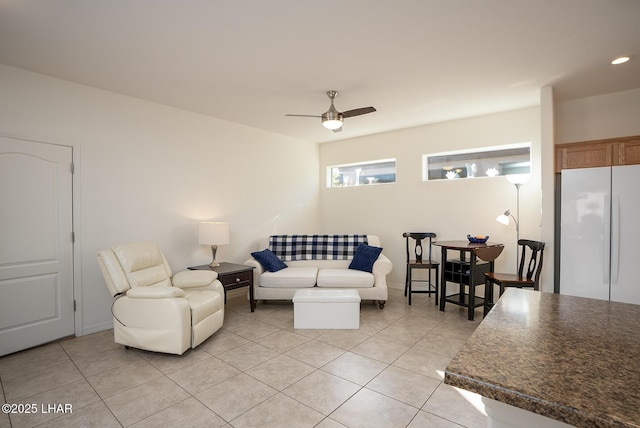
{"type": "Polygon", "coordinates": [[[298,329],[360,328],[357,290],[311,288],[293,295],[293,327],[298,329]]]}

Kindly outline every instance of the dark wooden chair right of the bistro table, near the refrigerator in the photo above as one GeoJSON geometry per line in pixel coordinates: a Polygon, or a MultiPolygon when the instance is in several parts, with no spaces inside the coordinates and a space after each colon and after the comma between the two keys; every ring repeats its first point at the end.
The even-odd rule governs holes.
{"type": "Polygon", "coordinates": [[[493,302],[493,286],[500,287],[500,296],[504,293],[506,287],[517,288],[533,288],[538,291],[540,289],[540,273],[542,272],[542,255],[544,254],[544,242],[531,241],[528,239],[520,239],[518,245],[521,247],[520,265],[518,273],[495,273],[488,272],[485,277],[485,299],[484,314],[486,315],[494,305],[493,302]],[[529,254],[527,255],[527,249],[529,254]],[[525,262],[527,263],[527,271],[524,271],[525,262]]]}

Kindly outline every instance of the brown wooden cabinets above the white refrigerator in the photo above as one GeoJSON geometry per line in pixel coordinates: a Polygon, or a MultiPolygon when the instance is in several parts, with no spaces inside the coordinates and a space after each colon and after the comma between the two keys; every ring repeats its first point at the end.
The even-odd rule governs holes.
{"type": "Polygon", "coordinates": [[[556,145],[556,172],[563,169],[640,164],[640,135],[556,145]]]}

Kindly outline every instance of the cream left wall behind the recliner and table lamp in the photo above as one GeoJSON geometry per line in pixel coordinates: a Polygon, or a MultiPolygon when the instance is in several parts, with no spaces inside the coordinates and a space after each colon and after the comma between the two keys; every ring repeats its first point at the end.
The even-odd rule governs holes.
{"type": "Polygon", "coordinates": [[[79,334],[111,325],[101,248],[154,240],[178,271],[210,261],[200,220],[230,222],[217,258],[238,263],[262,235],[319,228],[316,144],[3,65],[0,94],[1,134],[80,152],[79,334]]]}

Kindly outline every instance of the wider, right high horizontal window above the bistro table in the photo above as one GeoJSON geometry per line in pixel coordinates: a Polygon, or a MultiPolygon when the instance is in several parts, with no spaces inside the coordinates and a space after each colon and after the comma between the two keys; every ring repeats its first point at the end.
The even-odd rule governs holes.
{"type": "Polygon", "coordinates": [[[422,156],[424,181],[530,173],[530,143],[422,156]]]}

